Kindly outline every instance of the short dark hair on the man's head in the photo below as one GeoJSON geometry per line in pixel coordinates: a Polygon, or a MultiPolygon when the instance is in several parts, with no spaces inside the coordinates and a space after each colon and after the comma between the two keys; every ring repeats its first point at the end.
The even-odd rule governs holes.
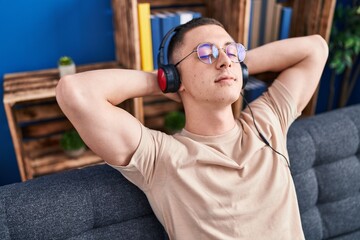
{"type": "Polygon", "coordinates": [[[168,56],[167,56],[169,62],[171,62],[171,57],[173,56],[175,49],[182,44],[185,34],[191,29],[204,25],[217,25],[224,28],[224,26],[216,19],[205,18],[205,17],[194,18],[191,21],[180,25],[179,27],[176,28],[175,34],[172,36],[169,42],[168,56]]]}

